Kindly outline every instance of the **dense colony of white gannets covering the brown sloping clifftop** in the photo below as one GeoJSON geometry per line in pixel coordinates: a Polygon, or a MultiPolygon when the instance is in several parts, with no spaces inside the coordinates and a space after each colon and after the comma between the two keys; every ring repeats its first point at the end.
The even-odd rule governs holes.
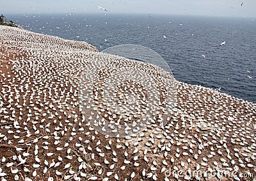
{"type": "Polygon", "coordinates": [[[0,39],[1,180],[256,179],[255,104],[174,80],[177,100],[170,113],[165,114],[163,87],[163,109],[154,110],[145,129],[109,136],[92,125],[97,115],[125,125],[140,119],[147,105],[154,107],[147,102],[144,86],[128,80],[115,90],[119,97],[124,95],[116,101],[125,105],[125,90],[130,90],[129,98],[137,98],[142,111],[130,107],[122,119],[122,113],[108,109],[102,80],[118,79],[111,76],[111,68],[144,70],[159,86],[168,79],[164,70],[99,52],[85,42],[19,28],[0,26],[0,39]],[[92,84],[84,72],[100,65],[99,82],[92,84]],[[84,86],[93,87],[83,104],[82,74],[84,86]],[[86,107],[92,95],[97,115],[90,116],[86,107]]]}

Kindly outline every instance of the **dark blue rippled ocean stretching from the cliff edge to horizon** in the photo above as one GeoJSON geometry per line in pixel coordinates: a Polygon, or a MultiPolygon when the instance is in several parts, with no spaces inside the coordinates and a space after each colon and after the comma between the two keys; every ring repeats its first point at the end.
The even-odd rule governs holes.
{"type": "Polygon", "coordinates": [[[135,13],[7,18],[29,31],[85,41],[99,51],[127,43],[143,45],[164,58],[175,79],[256,102],[256,20],[252,18],[135,13]]]}

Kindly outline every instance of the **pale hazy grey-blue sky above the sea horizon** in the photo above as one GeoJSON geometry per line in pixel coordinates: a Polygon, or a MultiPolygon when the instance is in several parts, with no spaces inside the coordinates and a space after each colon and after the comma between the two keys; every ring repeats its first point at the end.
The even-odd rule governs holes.
{"type": "Polygon", "coordinates": [[[162,13],[256,17],[256,0],[1,0],[0,13],[162,13]],[[99,10],[97,6],[106,8],[108,12],[99,10]]]}

